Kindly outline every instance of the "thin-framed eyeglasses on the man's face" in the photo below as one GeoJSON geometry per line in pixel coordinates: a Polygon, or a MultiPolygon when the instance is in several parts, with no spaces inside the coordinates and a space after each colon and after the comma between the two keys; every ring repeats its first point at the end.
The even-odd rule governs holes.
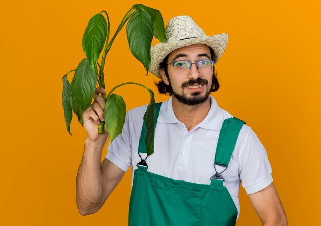
{"type": "Polygon", "coordinates": [[[174,70],[178,75],[187,75],[192,68],[192,64],[196,64],[197,70],[200,74],[207,75],[213,73],[215,61],[213,60],[198,60],[192,63],[188,60],[177,60],[169,64],[173,64],[174,70]]]}

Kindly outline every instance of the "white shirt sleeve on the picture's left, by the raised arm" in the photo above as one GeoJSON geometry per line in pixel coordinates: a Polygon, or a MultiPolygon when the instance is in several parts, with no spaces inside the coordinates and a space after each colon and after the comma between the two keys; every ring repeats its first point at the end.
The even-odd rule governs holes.
{"type": "Polygon", "coordinates": [[[132,111],[128,111],[125,116],[125,124],[122,133],[116,137],[108,146],[106,159],[113,162],[123,171],[127,171],[131,166],[131,142],[130,142],[130,118],[132,111]]]}

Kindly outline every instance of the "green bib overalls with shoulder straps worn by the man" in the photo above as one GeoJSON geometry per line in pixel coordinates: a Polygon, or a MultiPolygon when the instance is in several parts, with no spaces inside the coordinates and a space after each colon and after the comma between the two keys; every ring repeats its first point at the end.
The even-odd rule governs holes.
{"type": "MultiPolygon", "coordinates": [[[[156,104],[156,119],[159,109],[160,103],[156,104]]],[[[215,171],[215,165],[227,168],[244,123],[235,117],[224,120],[215,153],[215,171]]],[[[145,137],[143,123],[138,153],[146,153],[145,137]]],[[[226,168],[216,171],[209,178],[211,183],[205,185],[148,172],[144,159],[137,166],[130,196],[129,226],[235,225],[237,209],[220,175],[226,168]]]]}

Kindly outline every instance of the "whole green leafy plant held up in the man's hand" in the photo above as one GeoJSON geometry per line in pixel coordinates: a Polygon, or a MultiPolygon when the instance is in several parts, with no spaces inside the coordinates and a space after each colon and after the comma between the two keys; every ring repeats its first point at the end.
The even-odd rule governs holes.
{"type": "MultiPolygon", "coordinates": [[[[79,123],[83,126],[82,114],[92,102],[93,94],[97,83],[99,87],[105,88],[104,67],[105,59],[112,43],[123,26],[127,23],[127,40],[131,53],[142,62],[147,73],[151,63],[150,46],[153,36],[158,40],[165,42],[164,21],[159,10],[155,10],[136,4],[125,14],[121,23],[118,26],[114,36],[109,41],[110,23],[106,11],[102,11],[94,15],[88,22],[83,35],[83,50],[84,58],[75,70],[69,71],[63,76],[63,93],[62,102],[64,109],[64,117],[67,126],[67,131],[70,133],[70,123],[72,120],[72,112],[74,112],[79,123]],[[107,22],[103,13],[106,14],[107,22]],[[129,20],[129,21],[128,21],[129,20]],[[98,63],[100,54],[104,49],[101,57],[101,64],[98,63]],[[99,72],[98,68],[99,67],[99,72]],[[69,83],[67,76],[70,72],[75,71],[74,77],[69,83]]],[[[147,75],[146,73],[146,75],[147,75]]],[[[154,149],[154,133],[155,133],[155,99],[154,93],[142,84],[127,82],[117,85],[107,95],[102,94],[106,101],[105,106],[105,126],[112,142],[117,135],[122,132],[125,123],[125,102],[123,98],[112,93],[117,87],[125,84],[135,84],[147,89],[150,95],[150,103],[144,115],[144,123],[146,125],[146,149],[147,154],[153,153],[154,149]]],[[[98,131],[102,133],[104,122],[99,124],[98,131]]]]}

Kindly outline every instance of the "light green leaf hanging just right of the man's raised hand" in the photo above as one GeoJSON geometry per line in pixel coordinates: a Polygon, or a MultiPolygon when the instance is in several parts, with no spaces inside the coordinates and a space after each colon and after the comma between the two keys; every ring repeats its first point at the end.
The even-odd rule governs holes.
{"type": "Polygon", "coordinates": [[[111,94],[105,105],[105,126],[112,142],[121,134],[126,115],[126,105],[123,98],[117,94],[111,94]]]}

